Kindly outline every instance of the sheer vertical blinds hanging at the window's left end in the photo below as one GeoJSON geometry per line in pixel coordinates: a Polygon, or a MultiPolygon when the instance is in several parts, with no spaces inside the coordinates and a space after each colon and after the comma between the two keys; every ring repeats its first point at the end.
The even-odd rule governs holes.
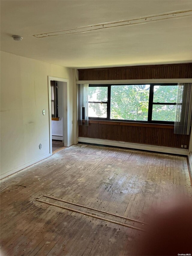
{"type": "Polygon", "coordinates": [[[85,125],[88,125],[88,84],[78,85],[78,120],[82,125],[83,114],[85,113],[85,125]]]}

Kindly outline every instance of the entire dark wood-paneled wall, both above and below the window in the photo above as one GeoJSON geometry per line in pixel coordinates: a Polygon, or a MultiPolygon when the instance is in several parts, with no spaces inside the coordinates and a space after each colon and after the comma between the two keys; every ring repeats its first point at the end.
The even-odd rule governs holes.
{"type": "MultiPolygon", "coordinates": [[[[79,80],[181,79],[192,78],[192,63],[115,68],[79,69],[79,80]]],[[[79,137],[143,143],[156,146],[189,147],[189,135],[174,134],[173,126],[89,121],[79,126],[79,137]]]]}

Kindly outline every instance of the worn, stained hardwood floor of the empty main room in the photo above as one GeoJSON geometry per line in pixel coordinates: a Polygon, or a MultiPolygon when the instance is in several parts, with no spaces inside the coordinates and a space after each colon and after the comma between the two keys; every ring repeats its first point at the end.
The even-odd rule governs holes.
{"type": "Polygon", "coordinates": [[[1,255],[130,255],[140,241],[143,231],[36,201],[44,194],[145,222],[152,208],[192,194],[185,157],[84,144],[1,186],[14,183],[26,188],[1,192],[1,255]]]}

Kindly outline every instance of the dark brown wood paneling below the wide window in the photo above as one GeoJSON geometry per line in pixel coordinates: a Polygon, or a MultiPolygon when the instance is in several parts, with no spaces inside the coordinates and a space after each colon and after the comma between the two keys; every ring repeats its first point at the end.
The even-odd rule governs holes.
{"type": "Polygon", "coordinates": [[[88,126],[79,125],[79,137],[175,148],[181,148],[181,145],[187,145],[187,149],[189,147],[189,135],[174,134],[174,126],[171,125],[139,125],[137,123],[134,126],[134,123],[131,123],[131,125],[129,123],[123,125],[122,122],[117,122],[117,124],[111,123],[90,120],[88,126]]]}

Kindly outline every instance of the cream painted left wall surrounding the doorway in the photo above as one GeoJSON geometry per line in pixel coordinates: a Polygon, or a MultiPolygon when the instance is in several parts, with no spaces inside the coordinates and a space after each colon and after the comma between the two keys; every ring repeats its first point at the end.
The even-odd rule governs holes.
{"type": "MultiPolygon", "coordinates": [[[[48,76],[69,79],[69,127],[73,131],[72,69],[1,51],[2,176],[49,155],[48,76]]],[[[73,136],[71,132],[69,144],[73,136]]]]}

